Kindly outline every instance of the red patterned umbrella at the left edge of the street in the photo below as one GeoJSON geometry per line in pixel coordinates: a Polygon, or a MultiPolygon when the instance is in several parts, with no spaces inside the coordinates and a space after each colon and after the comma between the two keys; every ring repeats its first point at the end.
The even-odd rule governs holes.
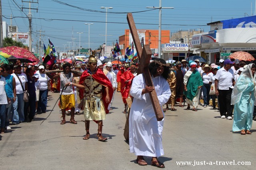
{"type": "Polygon", "coordinates": [[[8,55],[12,55],[12,56],[17,57],[17,58],[26,58],[26,59],[29,59],[31,61],[38,61],[39,62],[39,59],[33,53],[31,53],[30,51],[28,51],[27,49],[24,49],[22,47],[16,47],[16,46],[3,47],[3,48],[0,48],[0,50],[3,53],[6,53],[8,55]]]}

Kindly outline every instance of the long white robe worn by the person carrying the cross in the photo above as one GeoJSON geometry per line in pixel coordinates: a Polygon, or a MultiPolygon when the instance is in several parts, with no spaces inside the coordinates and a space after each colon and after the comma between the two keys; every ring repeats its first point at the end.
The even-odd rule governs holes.
{"type": "MultiPolygon", "coordinates": [[[[171,96],[169,84],[162,76],[152,77],[152,81],[162,106],[171,96]]],[[[130,89],[130,94],[134,97],[129,117],[130,152],[137,156],[159,157],[164,154],[162,147],[164,119],[156,120],[149,94],[141,94],[145,87],[143,74],[134,77],[130,89]]]]}

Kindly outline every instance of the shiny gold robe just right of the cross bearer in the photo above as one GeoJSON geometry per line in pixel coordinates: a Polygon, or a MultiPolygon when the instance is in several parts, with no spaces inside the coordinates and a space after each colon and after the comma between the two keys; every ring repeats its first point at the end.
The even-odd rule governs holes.
{"type": "Polygon", "coordinates": [[[175,73],[173,71],[171,71],[169,73],[169,77],[167,78],[167,82],[169,83],[170,86],[170,90],[171,90],[171,96],[170,99],[168,100],[168,102],[166,104],[171,104],[171,105],[175,105],[175,96],[176,96],[176,77],[175,77],[175,73]]]}

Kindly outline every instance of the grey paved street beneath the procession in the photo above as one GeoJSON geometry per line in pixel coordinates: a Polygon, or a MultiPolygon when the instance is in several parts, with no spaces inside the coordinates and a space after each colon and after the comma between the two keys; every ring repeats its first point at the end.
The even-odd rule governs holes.
{"type": "MultiPolygon", "coordinates": [[[[126,116],[120,93],[116,93],[115,107],[103,121],[103,136],[107,142],[96,137],[97,124],[91,122],[89,140],[85,135],[84,116],[76,115],[77,125],[60,125],[60,109],[55,106],[59,94],[52,94],[48,111],[38,114],[35,121],[11,125],[12,130],[0,137],[1,170],[156,170],[153,166],[138,166],[136,156],[130,153],[123,137],[126,116]],[[40,125],[42,123],[42,125],[40,125]]],[[[220,119],[219,112],[198,107],[198,111],[177,111],[165,113],[163,146],[164,156],[159,158],[166,169],[254,169],[256,166],[256,121],[252,135],[232,133],[233,121],[220,119]],[[209,165],[216,161],[250,161],[251,165],[209,165]],[[206,165],[177,165],[176,161],[197,161],[206,165]],[[205,161],[205,162],[204,162],[205,161]]],[[[70,116],[66,116],[69,121],[70,116]]],[[[146,157],[150,164],[150,158],[146,157]]]]}

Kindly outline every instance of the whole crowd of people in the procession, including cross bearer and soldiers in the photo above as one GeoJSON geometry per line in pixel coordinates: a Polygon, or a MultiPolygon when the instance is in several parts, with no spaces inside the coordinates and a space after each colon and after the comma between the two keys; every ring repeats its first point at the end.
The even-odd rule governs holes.
{"type": "Polygon", "coordinates": [[[60,93],[61,125],[66,123],[66,115],[70,115],[70,123],[77,124],[74,117],[83,110],[86,129],[83,139],[90,139],[90,121],[95,121],[98,140],[104,142],[107,138],[102,136],[103,120],[112,110],[115,93],[120,92],[123,113],[130,112],[130,152],[136,154],[139,165],[147,164],[143,156],[152,156],[151,164],[163,168],[157,158],[164,154],[164,119],[156,120],[148,94],[153,90],[162,112],[176,111],[175,106],[184,107],[186,102],[185,110],[192,107],[192,111],[198,111],[200,104],[204,108],[211,105],[220,111],[222,119],[232,120],[234,110],[233,132],[251,134],[252,120],[256,120],[256,65],[237,59],[221,59],[218,63],[200,63],[198,59],[166,63],[155,59],[148,66],[154,86],[148,86],[142,74],[137,75],[139,64],[102,63],[94,55],[87,63],[73,66],[70,63],[21,66],[19,60],[14,65],[3,64],[0,66],[1,133],[11,129],[10,122],[17,125],[34,121],[36,114],[46,113],[48,92],[52,91],[60,93]],[[129,98],[133,99],[131,106],[129,98]]]}

